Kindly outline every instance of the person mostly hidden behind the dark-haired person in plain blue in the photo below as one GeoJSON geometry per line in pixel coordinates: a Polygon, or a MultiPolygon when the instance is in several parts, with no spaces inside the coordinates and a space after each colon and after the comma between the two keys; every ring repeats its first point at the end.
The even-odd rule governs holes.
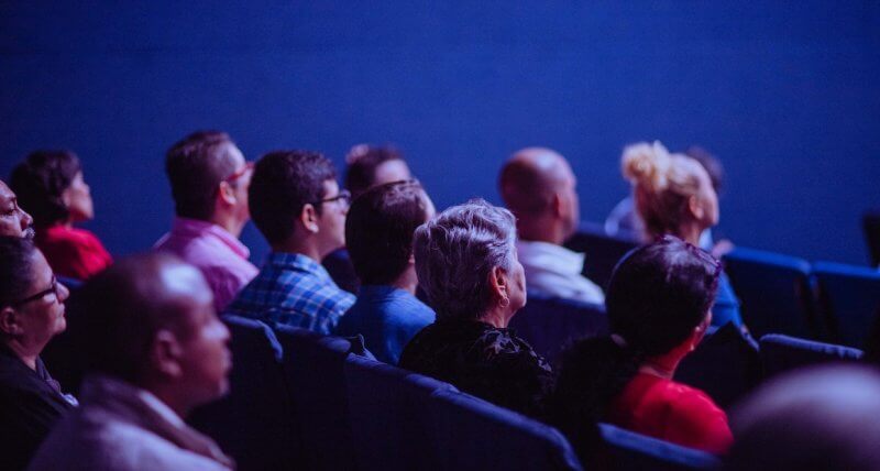
{"type": "MultiPolygon", "coordinates": [[[[358,144],[349,151],[345,164],[345,189],[351,193],[352,199],[373,186],[413,177],[404,156],[392,146],[358,144]]],[[[345,249],[331,252],[321,264],[339,287],[349,293],[358,293],[361,283],[345,249]]]]}

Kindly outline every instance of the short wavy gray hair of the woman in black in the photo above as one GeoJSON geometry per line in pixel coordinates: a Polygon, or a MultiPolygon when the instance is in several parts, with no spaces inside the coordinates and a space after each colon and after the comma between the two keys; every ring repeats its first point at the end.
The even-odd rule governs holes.
{"type": "Polygon", "coordinates": [[[479,319],[490,307],[490,275],[513,269],[516,219],[507,209],[472,199],[416,229],[419,285],[439,319],[479,319]]]}

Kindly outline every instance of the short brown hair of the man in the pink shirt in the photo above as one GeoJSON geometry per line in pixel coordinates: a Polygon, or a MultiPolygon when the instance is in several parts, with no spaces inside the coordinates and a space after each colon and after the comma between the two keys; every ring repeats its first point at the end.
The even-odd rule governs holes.
{"type": "Polygon", "coordinates": [[[197,131],[168,150],[165,173],[177,216],[199,220],[213,216],[217,187],[235,172],[229,152],[234,145],[224,132],[197,131]]]}

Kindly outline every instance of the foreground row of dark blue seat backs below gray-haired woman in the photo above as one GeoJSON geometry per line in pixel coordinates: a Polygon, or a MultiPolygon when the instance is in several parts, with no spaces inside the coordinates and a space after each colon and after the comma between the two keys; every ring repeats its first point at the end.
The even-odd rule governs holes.
{"type": "MultiPolygon", "coordinates": [[[[224,317],[230,394],[190,423],[239,469],[580,470],[554,428],[377,362],[360,338],[224,317]]],[[[711,454],[602,425],[615,469],[710,469],[711,454]]]]}

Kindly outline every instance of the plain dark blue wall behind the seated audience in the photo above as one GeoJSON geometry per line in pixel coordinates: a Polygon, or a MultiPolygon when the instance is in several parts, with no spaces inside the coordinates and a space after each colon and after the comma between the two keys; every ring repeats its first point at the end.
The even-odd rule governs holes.
{"type": "MultiPolygon", "coordinates": [[[[503,160],[549,145],[592,220],[628,190],[626,143],[700,143],[728,172],[722,233],[867,260],[876,1],[70,3],[0,6],[0,174],[35,147],[77,151],[89,228],[114,253],[167,228],[168,145],[218,128],[250,158],[308,147],[340,164],[354,143],[395,142],[439,207],[499,201],[503,160]]],[[[244,239],[261,258],[257,232],[244,239]]]]}

